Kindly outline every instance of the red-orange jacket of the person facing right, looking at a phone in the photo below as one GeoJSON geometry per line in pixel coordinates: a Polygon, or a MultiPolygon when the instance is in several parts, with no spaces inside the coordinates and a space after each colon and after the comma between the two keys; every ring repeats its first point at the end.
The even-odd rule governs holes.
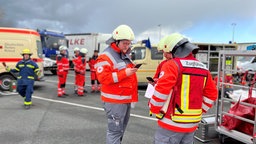
{"type": "Polygon", "coordinates": [[[109,103],[131,103],[138,101],[136,73],[127,76],[125,69],[132,68],[130,56],[121,53],[112,43],[97,58],[96,75],[102,84],[101,99],[109,103]]]}

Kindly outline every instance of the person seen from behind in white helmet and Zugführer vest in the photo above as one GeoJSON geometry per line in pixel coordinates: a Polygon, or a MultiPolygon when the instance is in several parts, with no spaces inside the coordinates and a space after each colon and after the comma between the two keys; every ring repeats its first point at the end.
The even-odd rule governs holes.
{"type": "Polygon", "coordinates": [[[192,144],[202,114],[217,98],[210,71],[193,56],[198,49],[179,33],[171,34],[163,49],[174,58],[163,65],[149,102],[151,112],[162,114],[155,144],[192,144]],[[168,108],[163,111],[165,102],[168,108]]]}

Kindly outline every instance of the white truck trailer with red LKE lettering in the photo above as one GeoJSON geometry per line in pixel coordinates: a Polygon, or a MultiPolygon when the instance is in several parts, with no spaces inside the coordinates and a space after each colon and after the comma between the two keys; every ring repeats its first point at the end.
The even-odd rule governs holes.
{"type": "MultiPolygon", "coordinates": [[[[86,56],[87,61],[93,55],[94,50],[98,50],[101,53],[106,47],[106,40],[111,37],[111,34],[104,33],[73,33],[73,34],[65,34],[65,37],[69,41],[69,60],[72,61],[74,57],[74,48],[86,48],[88,49],[88,53],[86,56]]],[[[72,67],[72,63],[71,63],[72,67]]],[[[86,69],[89,69],[89,66],[86,66],[86,69]]]]}

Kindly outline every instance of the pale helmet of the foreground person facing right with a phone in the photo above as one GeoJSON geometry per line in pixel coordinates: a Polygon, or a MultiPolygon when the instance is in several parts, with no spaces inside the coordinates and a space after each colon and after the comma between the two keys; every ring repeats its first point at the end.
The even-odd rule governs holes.
{"type": "Polygon", "coordinates": [[[134,40],[134,33],[128,25],[120,25],[113,32],[112,37],[114,40],[134,40]]]}

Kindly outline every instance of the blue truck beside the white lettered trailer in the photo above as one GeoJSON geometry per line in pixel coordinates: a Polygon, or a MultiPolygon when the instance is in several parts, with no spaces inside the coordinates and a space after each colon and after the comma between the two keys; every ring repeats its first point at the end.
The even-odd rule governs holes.
{"type": "Polygon", "coordinates": [[[56,75],[56,55],[59,53],[59,46],[68,47],[68,40],[62,32],[48,29],[37,29],[40,34],[43,54],[44,54],[44,71],[51,71],[56,75]]]}

